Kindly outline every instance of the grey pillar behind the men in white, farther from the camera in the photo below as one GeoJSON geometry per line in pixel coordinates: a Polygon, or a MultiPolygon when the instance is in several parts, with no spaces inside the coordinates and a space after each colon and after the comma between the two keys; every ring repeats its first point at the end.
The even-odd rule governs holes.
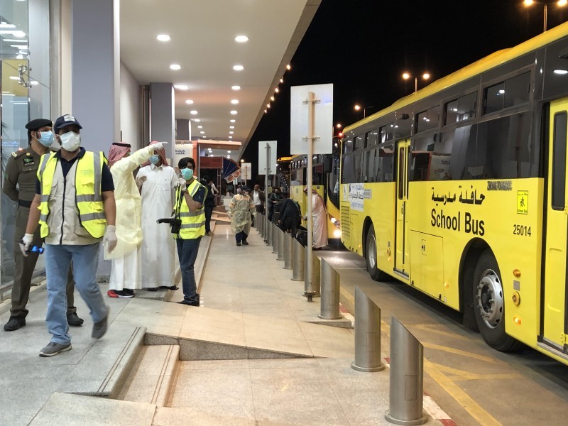
{"type": "Polygon", "coordinates": [[[168,142],[165,156],[173,159],[175,94],[171,83],[150,83],[150,138],[168,142]]]}

